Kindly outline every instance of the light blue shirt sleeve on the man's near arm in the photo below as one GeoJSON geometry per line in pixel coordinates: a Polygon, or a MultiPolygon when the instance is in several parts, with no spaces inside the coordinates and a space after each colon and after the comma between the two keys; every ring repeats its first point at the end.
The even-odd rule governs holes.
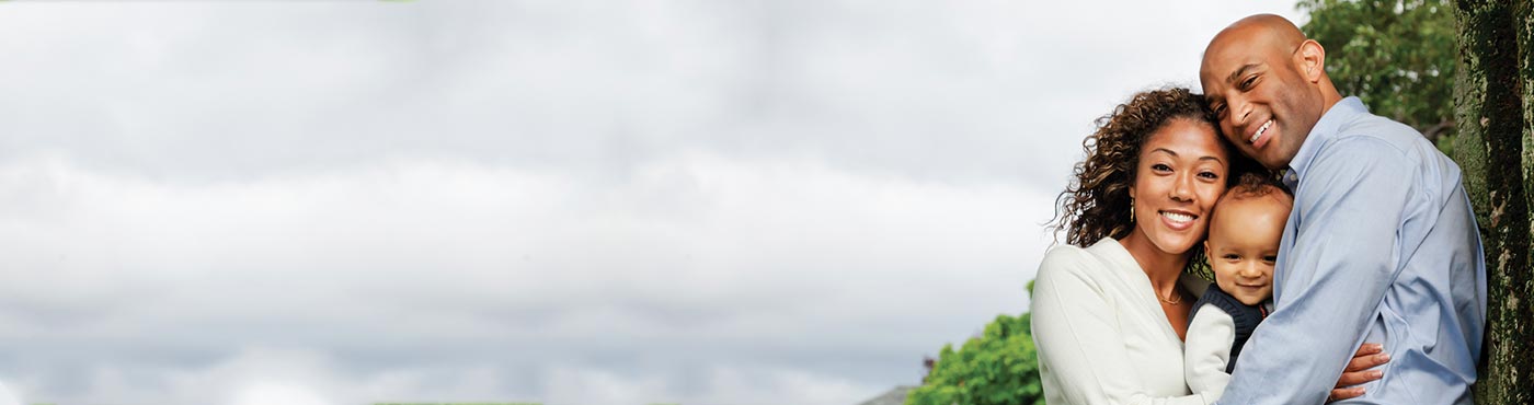
{"type": "Polygon", "coordinates": [[[1316,155],[1299,178],[1276,310],[1241,351],[1220,403],[1325,402],[1399,275],[1399,229],[1417,175],[1405,153],[1367,137],[1316,155]]]}

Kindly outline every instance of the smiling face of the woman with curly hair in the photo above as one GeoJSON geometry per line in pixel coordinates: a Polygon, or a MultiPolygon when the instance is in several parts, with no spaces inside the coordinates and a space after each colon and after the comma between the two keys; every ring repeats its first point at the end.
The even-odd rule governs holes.
{"type": "Polygon", "coordinates": [[[1140,149],[1135,230],[1164,253],[1183,255],[1204,239],[1209,210],[1226,192],[1229,156],[1209,123],[1174,118],[1140,149]]]}

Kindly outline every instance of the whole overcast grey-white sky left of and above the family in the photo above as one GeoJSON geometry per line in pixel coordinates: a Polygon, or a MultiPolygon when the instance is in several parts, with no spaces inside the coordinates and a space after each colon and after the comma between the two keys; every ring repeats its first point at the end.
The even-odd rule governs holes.
{"type": "Polygon", "coordinates": [[[851,405],[1028,308],[1080,141],[1293,2],[5,2],[0,382],[851,405]]]}

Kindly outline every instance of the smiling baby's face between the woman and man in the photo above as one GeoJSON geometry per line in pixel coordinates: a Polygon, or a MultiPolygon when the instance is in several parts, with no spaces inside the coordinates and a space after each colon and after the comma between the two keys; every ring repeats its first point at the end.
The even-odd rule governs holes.
{"type": "Polygon", "coordinates": [[[1273,296],[1273,261],[1290,206],[1275,190],[1262,196],[1220,201],[1209,224],[1204,253],[1215,270],[1215,284],[1236,301],[1256,305],[1273,296]]]}

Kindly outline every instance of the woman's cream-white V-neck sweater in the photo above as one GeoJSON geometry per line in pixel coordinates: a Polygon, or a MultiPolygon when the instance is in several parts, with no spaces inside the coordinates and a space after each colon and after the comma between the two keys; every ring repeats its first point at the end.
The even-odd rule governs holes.
{"type": "MultiPolygon", "coordinates": [[[[1197,295],[1207,281],[1183,276],[1197,295]]],[[[1183,370],[1183,341],[1150,279],[1118,241],[1051,249],[1039,265],[1032,333],[1045,402],[1204,405],[1183,370]]]]}

